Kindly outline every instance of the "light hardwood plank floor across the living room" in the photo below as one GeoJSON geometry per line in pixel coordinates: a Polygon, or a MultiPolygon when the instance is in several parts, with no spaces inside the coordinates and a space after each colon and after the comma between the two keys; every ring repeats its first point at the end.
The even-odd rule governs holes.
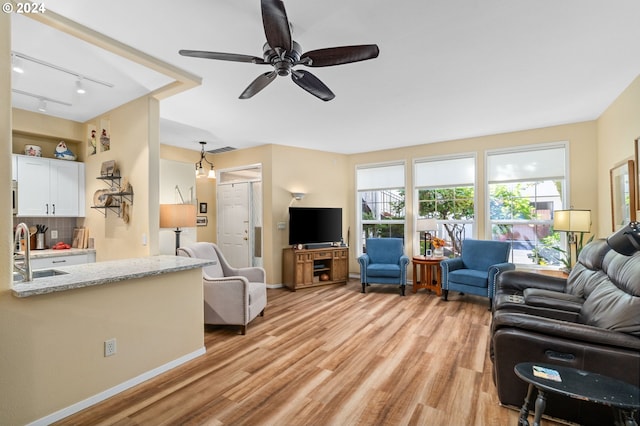
{"type": "MultiPolygon", "coordinates": [[[[516,425],[498,404],[488,301],[360,283],[268,290],[241,336],[60,425],[516,425]]],[[[544,425],[556,425],[544,421],[544,425]]]]}

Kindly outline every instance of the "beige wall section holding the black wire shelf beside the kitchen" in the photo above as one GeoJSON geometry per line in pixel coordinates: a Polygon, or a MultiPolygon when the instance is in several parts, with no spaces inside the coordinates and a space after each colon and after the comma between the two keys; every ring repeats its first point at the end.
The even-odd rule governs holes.
{"type": "MultiPolygon", "coordinates": [[[[90,236],[95,239],[98,261],[141,257],[158,253],[159,188],[158,167],[160,143],[158,141],[159,105],[152,97],[144,96],[85,124],[100,126],[102,120],[110,123],[111,149],[87,156],[86,219],[90,236]],[[108,182],[96,179],[102,163],[115,160],[122,177],[133,187],[134,199],[130,209],[130,222],[125,223],[117,213],[106,211],[106,216],[91,209],[93,194],[107,188],[108,182]],[[144,240],[146,239],[146,244],[144,240]]],[[[87,129],[86,126],[84,126],[87,129]]],[[[85,130],[88,136],[88,133],[85,130]]]]}

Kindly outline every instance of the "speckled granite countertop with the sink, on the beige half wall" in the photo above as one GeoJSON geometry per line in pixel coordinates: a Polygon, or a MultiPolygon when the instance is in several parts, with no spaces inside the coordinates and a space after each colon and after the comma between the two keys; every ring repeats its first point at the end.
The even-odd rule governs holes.
{"type": "Polygon", "coordinates": [[[55,270],[67,272],[66,274],[36,278],[30,282],[17,282],[13,285],[12,291],[16,297],[37,296],[201,268],[215,263],[215,260],[162,255],[64,266],[55,270]]]}

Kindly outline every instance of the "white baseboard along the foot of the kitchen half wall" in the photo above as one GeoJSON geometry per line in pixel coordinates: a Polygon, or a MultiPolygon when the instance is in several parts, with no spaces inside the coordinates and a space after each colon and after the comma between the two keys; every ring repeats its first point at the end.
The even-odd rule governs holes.
{"type": "Polygon", "coordinates": [[[202,348],[194,352],[181,356],[178,359],[175,359],[171,362],[161,365],[160,367],[154,368],[153,370],[149,370],[146,373],[142,373],[139,376],[129,379],[123,383],[120,383],[119,385],[116,385],[110,389],[100,392],[99,394],[93,395],[85,400],[76,402],[73,405],[70,405],[66,408],[56,411],[55,413],[51,413],[34,422],[31,422],[28,424],[28,426],[46,426],[58,420],[64,419],[65,417],[69,417],[70,415],[75,414],[78,411],[91,407],[92,405],[102,402],[107,398],[111,398],[112,396],[119,394],[120,392],[123,392],[129,388],[139,385],[142,382],[145,382],[149,379],[159,376],[160,374],[166,371],[176,368],[177,366],[184,364],[185,362],[191,361],[194,358],[204,355],[206,352],[207,350],[203,346],[202,348]]]}

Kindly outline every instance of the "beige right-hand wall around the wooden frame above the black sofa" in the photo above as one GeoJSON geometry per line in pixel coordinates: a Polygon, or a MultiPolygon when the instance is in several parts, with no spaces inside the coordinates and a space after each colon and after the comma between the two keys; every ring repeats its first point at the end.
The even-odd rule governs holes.
{"type": "MultiPolygon", "coordinates": [[[[598,119],[598,229],[612,233],[609,170],[634,156],[633,142],[640,137],[640,76],[598,119]]],[[[638,167],[638,164],[636,164],[638,167]]],[[[640,220],[637,217],[636,220],[640,220]]]]}

